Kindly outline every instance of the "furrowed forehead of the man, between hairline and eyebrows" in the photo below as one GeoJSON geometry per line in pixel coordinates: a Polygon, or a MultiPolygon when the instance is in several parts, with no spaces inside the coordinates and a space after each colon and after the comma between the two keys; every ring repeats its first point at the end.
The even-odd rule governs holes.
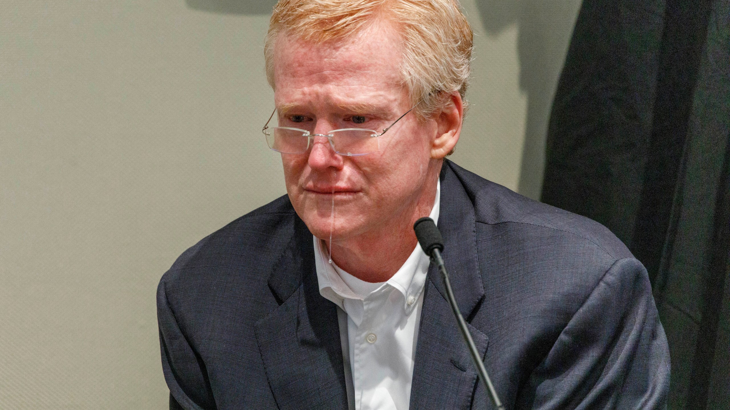
{"type": "Polygon", "coordinates": [[[273,61],[277,104],[299,98],[400,96],[402,42],[387,20],[338,42],[315,43],[282,33],[273,61]]]}

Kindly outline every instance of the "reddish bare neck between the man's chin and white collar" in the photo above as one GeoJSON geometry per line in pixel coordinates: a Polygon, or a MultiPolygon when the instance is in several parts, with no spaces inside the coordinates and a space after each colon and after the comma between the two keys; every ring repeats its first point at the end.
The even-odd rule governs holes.
{"type": "MultiPolygon", "coordinates": [[[[437,176],[429,175],[418,200],[397,217],[384,221],[379,230],[334,241],[330,250],[334,263],[365,282],[391,279],[418,245],[413,223],[431,214],[436,199],[437,176]]],[[[326,241],[325,244],[326,247],[330,245],[326,241]]]]}

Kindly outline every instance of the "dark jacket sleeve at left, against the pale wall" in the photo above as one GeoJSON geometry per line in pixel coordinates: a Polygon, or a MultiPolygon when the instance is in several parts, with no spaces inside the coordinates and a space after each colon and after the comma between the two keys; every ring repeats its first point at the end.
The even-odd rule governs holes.
{"type": "Polygon", "coordinates": [[[157,288],[162,371],[170,389],[170,410],[212,410],[215,399],[205,363],[180,330],[166,291],[165,276],[157,288]]]}

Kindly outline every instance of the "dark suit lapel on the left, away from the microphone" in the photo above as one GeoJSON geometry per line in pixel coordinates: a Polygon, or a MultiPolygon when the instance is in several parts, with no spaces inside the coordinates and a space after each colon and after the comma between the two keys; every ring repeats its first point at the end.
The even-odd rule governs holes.
{"type": "Polygon", "coordinates": [[[347,409],[337,306],[319,293],[312,234],[294,219],[269,279],[281,304],[254,325],[258,349],[279,409],[347,409]]]}

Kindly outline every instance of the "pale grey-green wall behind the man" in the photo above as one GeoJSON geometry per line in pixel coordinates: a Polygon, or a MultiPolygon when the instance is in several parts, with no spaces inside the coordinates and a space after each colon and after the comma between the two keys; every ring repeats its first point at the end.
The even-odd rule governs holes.
{"type": "MultiPolygon", "coordinates": [[[[453,159],[537,196],[579,2],[464,0],[453,159]],[[478,4],[477,4],[478,3],[478,4]]],[[[165,409],[155,287],[282,195],[261,125],[272,1],[0,2],[0,409],[165,409]]]]}

